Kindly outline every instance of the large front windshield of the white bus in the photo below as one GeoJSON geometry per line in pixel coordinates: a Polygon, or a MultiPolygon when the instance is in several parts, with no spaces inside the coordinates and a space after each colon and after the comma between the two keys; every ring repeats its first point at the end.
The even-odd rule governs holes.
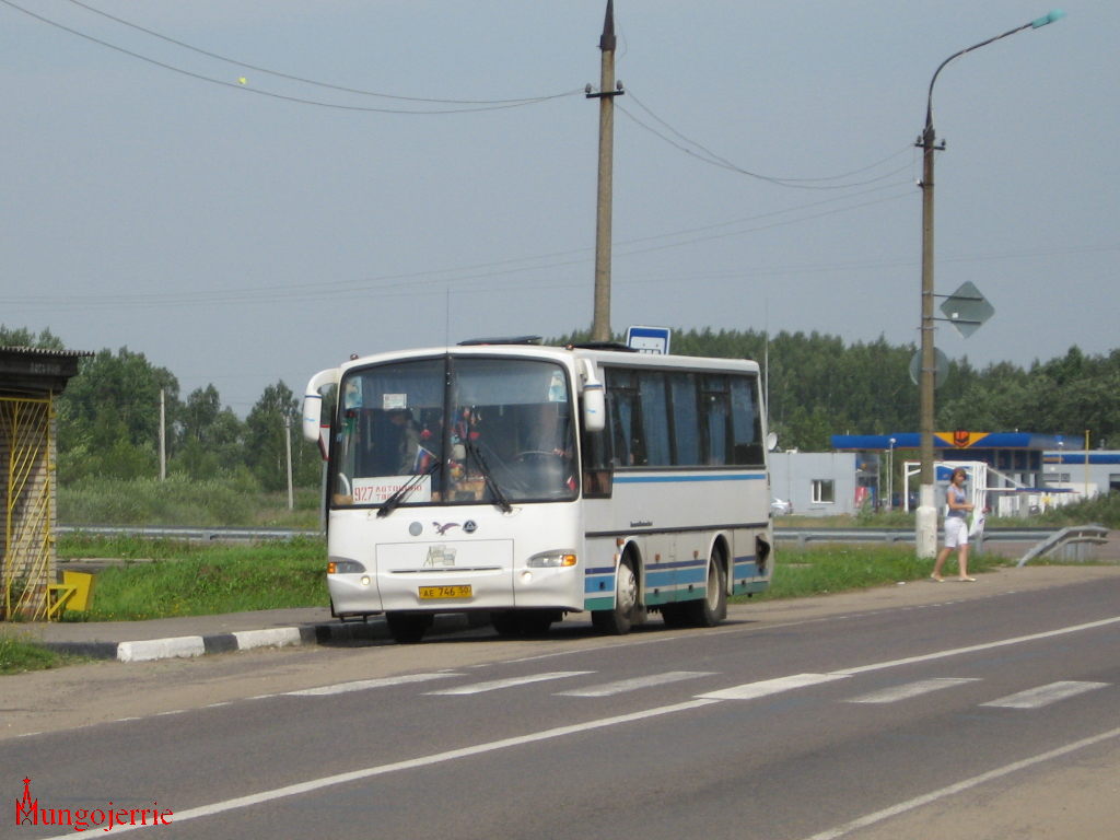
{"type": "Polygon", "coordinates": [[[485,356],[389,362],[348,371],[339,394],[335,506],[506,507],[577,495],[562,365],[485,356]]]}

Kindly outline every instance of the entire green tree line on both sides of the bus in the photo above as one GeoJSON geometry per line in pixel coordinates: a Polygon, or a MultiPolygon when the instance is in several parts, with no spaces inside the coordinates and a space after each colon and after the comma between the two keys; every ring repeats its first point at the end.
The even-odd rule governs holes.
{"type": "MultiPolygon", "coordinates": [[[[586,343],[577,330],[550,344],[586,343]]],[[[62,351],[49,330],[34,334],[0,325],[0,346],[62,351]]],[[[916,431],[917,386],[911,360],[917,348],[874,342],[846,343],[820,333],[767,335],[756,330],[674,330],[675,354],[754,358],[766,365],[769,420],[783,448],[828,451],[837,433],[916,431]]],[[[263,491],[287,486],[290,424],[297,486],[320,480],[317,447],[299,433],[299,403],[283,381],[268,385],[244,420],[222,404],[213,384],[181,398],[171,371],[121,347],[83,358],[57,401],[58,474],[66,484],[87,477],[158,475],[160,392],[164,394],[167,469],[194,479],[251,478],[263,491]]],[[[1120,445],[1120,349],[1086,355],[1076,346],[1028,367],[1009,362],[980,370],[951,361],[937,389],[939,431],[1033,431],[1093,448],[1120,445]]]]}

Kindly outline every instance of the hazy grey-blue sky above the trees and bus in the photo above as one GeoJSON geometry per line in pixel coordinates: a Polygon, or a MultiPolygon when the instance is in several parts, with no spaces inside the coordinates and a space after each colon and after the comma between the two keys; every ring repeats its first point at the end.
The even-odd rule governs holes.
{"type": "MultiPolygon", "coordinates": [[[[1038,3],[616,0],[614,330],[916,344],[931,77],[1038,3]]],[[[605,6],[0,0],[0,324],[241,416],[589,327],[605,6]]],[[[935,289],[996,309],[936,344],[980,367],[1120,346],[1120,3],[1063,8],[934,87],[935,289]]]]}

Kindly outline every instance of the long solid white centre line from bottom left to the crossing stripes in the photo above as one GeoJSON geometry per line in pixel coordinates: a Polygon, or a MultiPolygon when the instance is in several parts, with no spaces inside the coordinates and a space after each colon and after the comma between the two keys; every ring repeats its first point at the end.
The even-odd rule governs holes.
{"type": "MultiPolygon", "coordinates": [[[[594,672],[592,672],[594,673],[594,672]]],[[[435,764],[442,764],[444,762],[452,762],[457,758],[469,758],[470,756],[483,755],[485,753],[494,753],[498,749],[508,749],[511,747],[520,747],[525,744],[536,744],[544,740],[552,740],[554,738],[563,738],[569,735],[580,735],[591,729],[606,729],[608,727],[622,726],[624,724],[632,724],[636,720],[647,720],[650,718],[662,717],[665,715],[675,715],[681,711],[691,711],[692,709],[700,709],[704,706],[710,706],[717,702],[716,700],[688,700],[683,703],[674,703],[672,706],[661,706],[656,709],[646,709],[645,711],[635,711],[629,715],[618,715],[612,718],[601,718],[600,720],[588,720],[584,724],[573,724],[571,726],[559,726],[553,729],[542,729],[539,732],[530,732],[529,735],[520,735],[513,738],[503,738],[501,740],[489,741],[487,744],[477,744],[473,747],[463,747],[460,749],[449,749],[446,753],[436,753],[433,755],[421,756],[420,758],[407,758],[403,762],[394,762],[393,764],[382,764],[373,767],[364,767],[362,769],[351,771],[349,773],[339,773],[334,776],[323,776],[321,778],[314,778],[308,782],[300,782],[298,784],[288,785],[286,787],[274,787],[271,791],[262,791],[260,793],[253,793],[248,796],[239,796],[232,800],[225,800],[223,802],[215,802],[209,805],[200,805],[198,808],[187,809],[186,811],[176,811],[175,816],[171,818],[175,823],[187,822],[188,820],[196,820],[200,816],[213,816],[214,814],[224,813],[226,811],[236,811],[242,808],[251,808],[253,805],[260,805],[267,802],[274,802],[276,800],[287,799],[289,796],[298,796],[305,793],[311,793],[314,791],[320,791],[324,787],[333,787],[334,785],[348,784],[351,782],[360,782],[364,778],[372,778],[374,776],[384,776],[390,773],[399,773],[407,769],[416,769],[418,767],[430,767],[435,764]]],[[[121,825],[114,828],[111,833],[123,834],[127,831],[133,831],[139,828],[147,828],[141,825],[121,825]]],[[[66,834],[58,834],[56,837],[46,838],[46,840],[73,840],[74,833],[68,832],[66,834]]]]}

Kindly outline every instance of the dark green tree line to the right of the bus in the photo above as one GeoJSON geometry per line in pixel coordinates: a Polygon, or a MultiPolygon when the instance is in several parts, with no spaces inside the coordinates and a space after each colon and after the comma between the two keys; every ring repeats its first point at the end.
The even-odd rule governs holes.
{"type": "MultiPolygon", "coordinates": [[[[589,340],[576,332],[559,344],[589,340]]],[[[918,391],[911,380],[914,344],[881,336],[847,344],[834,335],[756,330],[674,330],[674,354],[753,358],[765,365],[771,429],[783,448],[828,451],[832,435],[918,430],[918,391]]],[[[1120,349],[1088,355],[1076,346],[1027,367],[951,361],[935,400],[937,431],[1030,431],[1065,435],[1091,448],[1120,448],[1120,349]]]]}

